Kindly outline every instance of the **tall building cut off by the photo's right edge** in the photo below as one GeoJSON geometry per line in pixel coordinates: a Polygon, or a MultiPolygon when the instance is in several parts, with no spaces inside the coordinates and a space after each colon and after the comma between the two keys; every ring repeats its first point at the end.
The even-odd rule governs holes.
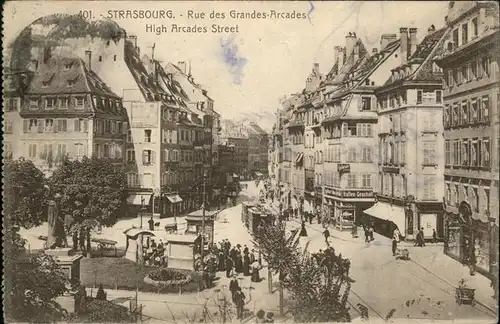
{"type": "Polygon", "coordinates": [[[444,71],[445,253],[498,276],[499,10],[450,1],[444,71]]]}

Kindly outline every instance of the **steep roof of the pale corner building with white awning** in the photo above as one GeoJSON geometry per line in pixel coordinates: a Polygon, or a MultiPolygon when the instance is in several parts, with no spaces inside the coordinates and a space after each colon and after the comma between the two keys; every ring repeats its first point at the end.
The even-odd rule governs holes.
{"type": "Polygon", "coordinates": [[[443,27],[432,33],[427,34],[424,39],[417,45],[415,53],[408,59],[408,63],[400,65],[396,69],[404,69],[408,65],[413,65],[410,73],[404,73],[403,76],[390,76],[385,82],[384,87],[389,85],[400,84],[404,81],[440,81],[442,73],[433,72],[432,58],[440,55],[444,51],[441,46],[444,36],[447,33],[447,27],[443,27]]]}

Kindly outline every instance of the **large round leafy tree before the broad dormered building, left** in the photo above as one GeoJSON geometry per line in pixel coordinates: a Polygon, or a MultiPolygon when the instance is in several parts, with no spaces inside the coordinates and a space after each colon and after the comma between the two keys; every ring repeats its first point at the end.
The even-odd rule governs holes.
{"type": "Polygon", "coordinates": [[[73,248],[90,251],[90,230],[113,226],[126,201],[124,169],[108,159],[84,157],[82,161],[63,161],[49,179],[52,192],[59,193],[60,213],[73,234],[73,248]],[[79,243],[79,244],[78,244],[79,243]]]}

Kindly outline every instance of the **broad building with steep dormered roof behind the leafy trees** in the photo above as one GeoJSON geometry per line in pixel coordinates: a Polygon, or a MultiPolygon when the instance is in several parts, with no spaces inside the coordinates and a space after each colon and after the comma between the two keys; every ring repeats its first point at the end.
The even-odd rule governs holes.
{"type": "Polygon", "coordinates": [[[65,158],[124,162],[127,114],[121,98],[92,71],[91,63],[46,56],[36,64],[20,116],[20,154],[50,174],[65,158]]]}

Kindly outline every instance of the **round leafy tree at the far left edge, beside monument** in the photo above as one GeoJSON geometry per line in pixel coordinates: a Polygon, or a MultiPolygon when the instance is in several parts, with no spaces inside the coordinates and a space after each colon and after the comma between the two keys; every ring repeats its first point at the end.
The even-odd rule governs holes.
{"type": "Polygon", "coordinates": [[[31,228],[47,218],[47,188],[43,172],[33,162],[20,158],[4,166],[5,221],[9,226],[31,228]]]}

